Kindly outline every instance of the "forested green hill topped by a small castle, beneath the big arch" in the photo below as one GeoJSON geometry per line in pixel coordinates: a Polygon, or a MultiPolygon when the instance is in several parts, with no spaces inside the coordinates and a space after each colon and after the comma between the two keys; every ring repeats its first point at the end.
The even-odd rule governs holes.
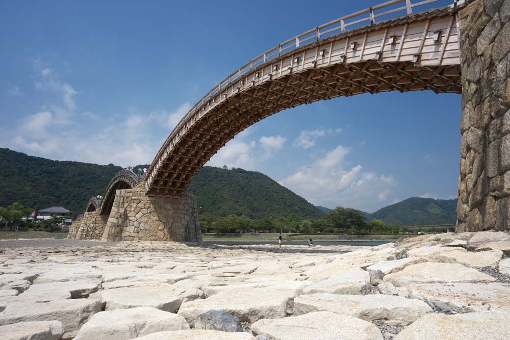
{"type": "Polygon", "coordinates": [[[200,214],[316,218],[323,213],[304,198],[268,176],[243,169],[203,167],[191,181],[200,214]]]}

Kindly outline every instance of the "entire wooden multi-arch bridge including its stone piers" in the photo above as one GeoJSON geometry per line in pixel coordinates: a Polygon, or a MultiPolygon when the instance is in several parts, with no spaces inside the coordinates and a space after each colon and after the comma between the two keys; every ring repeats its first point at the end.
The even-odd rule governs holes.
{"type": "Polygon", "coordinates": [[[119,172],[68,237],[200,242],[196,200],[186,188],[242,130],[304,103],[421,90],[462,93],[456,231],[510,229],[510,9],[502,1],[453,0],[420,11],[439,1],[446,0],[391,0],[253,58],[177,124],[144,186],[119,172]]]}

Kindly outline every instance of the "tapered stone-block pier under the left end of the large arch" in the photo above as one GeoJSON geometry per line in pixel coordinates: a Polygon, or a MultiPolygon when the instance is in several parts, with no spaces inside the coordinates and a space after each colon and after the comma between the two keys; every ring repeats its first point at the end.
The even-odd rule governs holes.
{"type": "Polygon", "coordinates": [[[144,185],[117,190],[101,241],[202,242],[196,200],[145,196],[144,185]]]}

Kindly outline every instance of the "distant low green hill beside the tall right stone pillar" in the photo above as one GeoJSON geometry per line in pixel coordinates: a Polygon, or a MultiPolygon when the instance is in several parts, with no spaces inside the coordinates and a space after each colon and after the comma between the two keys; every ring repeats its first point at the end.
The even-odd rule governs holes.
{"type": "Polygon", "coordinates": [[[384,223],[398,225],[455,223],[456,208],[456,198],[411,197],[369,214],[367,220],[381,219],[384,223]]]}

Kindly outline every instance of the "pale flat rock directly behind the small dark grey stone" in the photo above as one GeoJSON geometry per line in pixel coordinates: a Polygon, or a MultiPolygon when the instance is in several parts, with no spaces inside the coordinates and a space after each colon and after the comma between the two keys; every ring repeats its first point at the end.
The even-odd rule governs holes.
{"type": "Polygon", "coordinates": [[[287,308],[294,293],[285,289],[253,288],[230,290],[212,295],[204,300],[194,300],[181,305],[178,314],[186,318],[191,326],[196,318],[211,310],[222,310],[245,322],[260,319],[276,319],[287,316],[287,308]]]}

